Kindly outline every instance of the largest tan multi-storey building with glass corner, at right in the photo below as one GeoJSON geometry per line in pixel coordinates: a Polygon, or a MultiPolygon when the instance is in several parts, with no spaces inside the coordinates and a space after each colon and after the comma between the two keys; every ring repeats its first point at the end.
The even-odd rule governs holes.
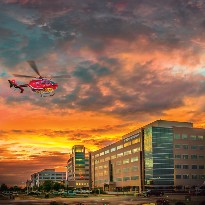
{"type": "Polygon", "coordinates": [[[157,120],[91,153],[92,188],[135,190],[200,186],[205,129],[157,120]]]}

